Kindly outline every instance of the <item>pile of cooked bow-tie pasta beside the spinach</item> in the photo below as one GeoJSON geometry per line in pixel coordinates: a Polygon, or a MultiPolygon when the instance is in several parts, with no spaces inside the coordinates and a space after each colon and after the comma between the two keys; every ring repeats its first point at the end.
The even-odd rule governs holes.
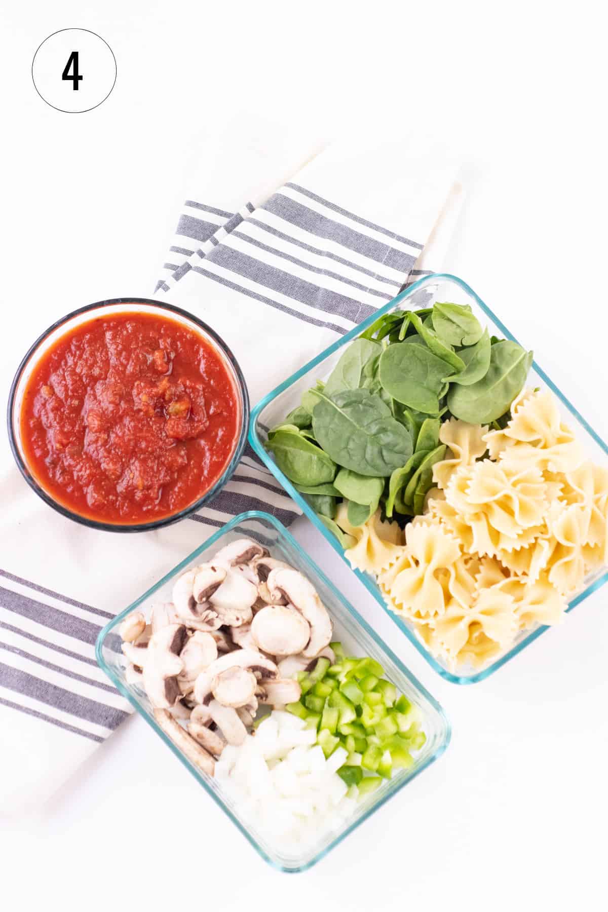
{"type": "Polygon", "coordinates": [[[481,667],[521,630],[562,621],[586,575],[608,563],[608,469],[585,460],[550,391],[524,389],[503,430],[449,419],[447,458],[425,512],[406,526],[336,523],[356,540],[353,566],[377,577],[450,668],[481,667]]]}

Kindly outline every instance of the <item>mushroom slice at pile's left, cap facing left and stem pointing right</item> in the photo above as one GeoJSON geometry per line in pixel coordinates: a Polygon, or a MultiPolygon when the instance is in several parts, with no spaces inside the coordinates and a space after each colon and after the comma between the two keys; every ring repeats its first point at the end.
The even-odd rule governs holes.
{"type": "Polygon", "coordinates": [[[143,684],[149,701],[157,710],[168,710],[181,697],[178,675],[183,670],[180,652],[186,641],[186,627],[170,624],[150,638],[143,667],[143,684]]]}

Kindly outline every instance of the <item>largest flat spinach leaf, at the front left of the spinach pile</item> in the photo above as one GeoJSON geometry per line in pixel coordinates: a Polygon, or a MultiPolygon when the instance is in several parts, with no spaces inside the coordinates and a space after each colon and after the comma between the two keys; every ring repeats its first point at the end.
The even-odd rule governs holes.
{"type": "Polygon", "coordinates": [[[384,478],[409,459],[412,440],[379,396],[367,389],[345,389],[332,397],[325,392],[319,397],[313,412],[314,435],[338,465],[384,478]]]}

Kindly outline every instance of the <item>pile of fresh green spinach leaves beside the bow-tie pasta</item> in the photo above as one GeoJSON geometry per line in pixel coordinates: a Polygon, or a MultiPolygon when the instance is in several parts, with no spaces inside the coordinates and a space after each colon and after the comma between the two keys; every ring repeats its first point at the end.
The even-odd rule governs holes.
{"type": "Polygon", "coordinates": [[[441,422],[504,426],[531,361],[516,342],[489,337],[468,305],[384,314],[269,431],[266,449],[348,547],[338,503],[354,526],[378,505],[401,524],[422,513],[446,454],[441,422]]]}

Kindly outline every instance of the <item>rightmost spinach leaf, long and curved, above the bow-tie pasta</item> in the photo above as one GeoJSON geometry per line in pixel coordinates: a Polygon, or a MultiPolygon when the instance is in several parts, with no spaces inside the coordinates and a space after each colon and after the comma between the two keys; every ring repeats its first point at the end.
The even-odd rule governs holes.
{"type": "Polygon", "coordinates": [[[532,353],[503,339],[490,347],[488,372],[469,387],[453,385],[448,407],[455,418],[470,424],[489,424],[509,409],[531,368],[532,353]]]}

